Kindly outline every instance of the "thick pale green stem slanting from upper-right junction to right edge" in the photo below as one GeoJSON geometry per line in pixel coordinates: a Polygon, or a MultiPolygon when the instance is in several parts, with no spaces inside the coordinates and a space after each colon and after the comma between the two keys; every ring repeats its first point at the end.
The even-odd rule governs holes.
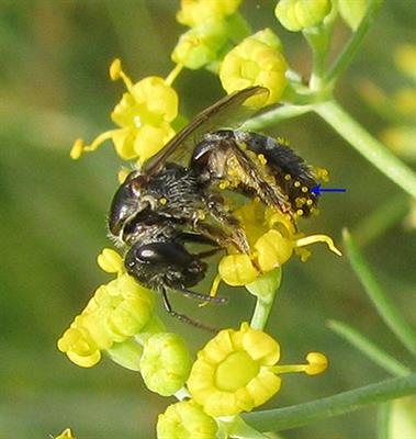
{"type": "Polygon", "coordinates": [[[372,137],[335,100],[318,103],[314,105],[314,110],[373,166],[416,198],[415,173],[383,144],[372,137]]]}

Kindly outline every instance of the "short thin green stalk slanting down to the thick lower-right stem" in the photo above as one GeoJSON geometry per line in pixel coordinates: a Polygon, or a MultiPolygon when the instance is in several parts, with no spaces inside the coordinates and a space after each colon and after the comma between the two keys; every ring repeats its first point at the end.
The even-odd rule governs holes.
{"type": "Polygon", "coordinates": [[[396,376],[406,376],[412,373],[408,368],[349,325],[337,320],[329,320],[328,327],[389,373],[396,376]]]}

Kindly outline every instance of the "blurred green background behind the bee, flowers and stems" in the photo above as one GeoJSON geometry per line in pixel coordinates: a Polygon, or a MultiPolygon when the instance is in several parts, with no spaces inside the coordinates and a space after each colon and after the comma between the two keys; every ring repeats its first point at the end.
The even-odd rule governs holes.
{"type": "MultiPolygon", "coordinates": [[[[91,370],[74,365],[58,352],[56,340],[94,289],[111,279],[99,270],[95,256],[110,246],[105,215],[121,166],[110,145],[79,161],[69,159],[70,146],[77,137],[89,142],[112,127],[109,114],[124,91],[108,77],[113,58],[121,57],[136,80],[171,69],[170,50],[184,31],[175,21],[178,3],[0,3],[1,439],[47,438],[68,426],[80,439],[153,438],[157,414],[173,402],[151,394],[137,373],[110,360],[91,370]]],[[[367,80],[387,93],[409,86],[394,67],[393,53],[400,44],[416,43],[416,3],[386,3],[337,88],[344,105],[374,134],[386,122],[364,102],[360,85],[367,80]]],[[[255,30],[270,26],[278,32],[291,65],[306,75],[311,59],[305,42],[277,23],[274,4],[246,1],[241,11],[255,30]]],[[[335,52],[348,32],[339,23],[335,52]]],[[[206,71],[184,71],[176,88],[187,116],[223,94],[217,78],[206,71]]],[[[315,115],[281,123],[268,133],[289,138],[307,161],[330,170],[333,187],[347,188],[344,194],[324,195],[322,214],[301,227],[329,234],[339,246],[341,228],[350,228],[405,318],[416,322],[415,229],[408,221],[404,226],[406,195],[315,115]]],[[[254,297],[237,289],[222,294],[231,297],[225,306],[199,308],[180,296],[172,302],[218,327],[249,318],[254,297]]],[[[160,303],[159,308],[168,327],[185,335],[193,350],[210,338],[173,322],[160,303]]],[[[315,246],[307,263],[292,259],[284,267],[268,329],[282,345],[283,362],[321,350],[330,368],[318,378],[285,378],[268,407],[307,402],[387,376],[335,336],[326,327],[329,318],[348,322],[412,365],[347,259],[315,246]]],[[[373,438],[375,415],[368,408],[283,436],[373,438]]]]}

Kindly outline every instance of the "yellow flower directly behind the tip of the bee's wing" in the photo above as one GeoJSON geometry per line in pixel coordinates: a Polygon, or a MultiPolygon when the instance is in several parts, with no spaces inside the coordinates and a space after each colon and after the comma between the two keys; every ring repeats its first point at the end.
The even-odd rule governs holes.
{"type": "Polygon", "coordinates": [[[262,86],[269,90],[262,105],[278,102],[286,86],[288,69],[280,49],[279,38],[269,29],[244,40],[221,65],[220,79],[224,90],[229,94],[247,87],[262,86]]]}

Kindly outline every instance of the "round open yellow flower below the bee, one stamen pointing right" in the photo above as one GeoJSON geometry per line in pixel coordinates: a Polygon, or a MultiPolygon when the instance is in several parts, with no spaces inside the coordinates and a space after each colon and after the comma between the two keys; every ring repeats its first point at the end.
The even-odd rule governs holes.
{"type": "Polygon", "coordinates": [[[281,379],[277,374],[317,374],[327,368],[326,357],[318,352],[307,356],[307,364],[276,365],[279,359],[279,344],[243,323],[239,330],[220,331],[198,353],[188,380],[189,392],[210,416],[238,415],[279,392],[281,379]]]}

